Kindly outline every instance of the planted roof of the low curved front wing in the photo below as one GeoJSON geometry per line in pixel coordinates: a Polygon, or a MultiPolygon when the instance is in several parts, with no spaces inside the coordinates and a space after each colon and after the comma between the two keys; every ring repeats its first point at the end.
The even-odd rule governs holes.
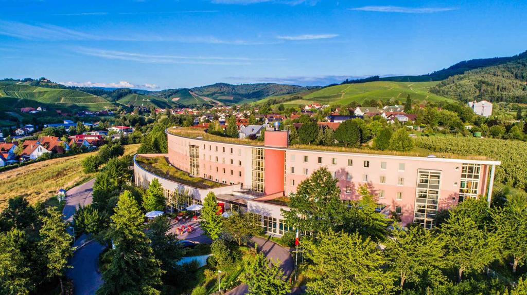
{"type": "Polygon", "coordinates": [[[225,186],[225,184],[219,182],[206,180],[205,178],[201,177],[190,176],[190,174],[187,172],[181,171],[178,168],[170,165],[170,163],[167,161],[167,158],[164,156],[144,157],[138,155],[135,157],[135,162],[137,162],[139,166],[148,172],[159,175],[168,180],[181,183],[183,185],[201,189],[225,186]]]}

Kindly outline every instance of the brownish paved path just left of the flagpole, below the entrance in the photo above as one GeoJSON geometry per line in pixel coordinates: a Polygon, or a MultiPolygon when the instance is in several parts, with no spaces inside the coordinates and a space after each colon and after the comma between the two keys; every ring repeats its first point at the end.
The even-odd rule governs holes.
{"type": "MultiPolygon", "coordinates": [[[[251,239],[253,243],[257,243],[258,250],[264,252],[267,259],[272,259],[274,262],[278,259],[280,261],[280,268],[284,271],[284,275],[288,279],[293,270],[295,270],[295,262],[289,253],[287,248],[284,248],[274,241],[253,237],[251,239]]],[[[247,285],[241,284],[240,286],[230,290],[226,295],[242,295],[247,294],[247,285]]]]}

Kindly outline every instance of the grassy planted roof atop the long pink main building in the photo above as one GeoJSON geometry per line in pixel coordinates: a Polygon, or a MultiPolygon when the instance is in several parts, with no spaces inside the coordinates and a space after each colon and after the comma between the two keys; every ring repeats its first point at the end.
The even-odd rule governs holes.
{"type": "MultiPolygon", "coordinates": [[[[238,138],[228,138],[219,135],[209,134],[204,132],[201,129],[189,128],[189,127],[170,127],[166,130],[168,134],[183,136],[190,139],[206,140],[206,141],[215,141],[215,142],[225,142],[232,144],[243,144],[243,145],[252,145],[252,146],[263,146],[264,142],[259,140],[250,140],[250,139],[238,139],[238,138]]],[[[479,160],[479,161],[489,161],[486,156],[481,155],[457,155],[452,153],[438,153],[432,152],[423,148],[415,147],[411,151],[407,152],[398,152],[398,151],[380,151],[370,148],[368,145],[363,146],[362,148],[347,148],[345,146],[325,146],[325,145],[308,145],[308,144],[294,144],[289,145],[288,149],[291,150],[315,150],[315,151],[326,151],[326,152],[345,152],[345,153],[358,153],[358,154],[371,154],[371,155],[392,155],[392,156],[412,156],[412,157],[427,157],[430,154],[435,155],[437,158],[445,159],[466,159],[466,160],[479,160]]]]}

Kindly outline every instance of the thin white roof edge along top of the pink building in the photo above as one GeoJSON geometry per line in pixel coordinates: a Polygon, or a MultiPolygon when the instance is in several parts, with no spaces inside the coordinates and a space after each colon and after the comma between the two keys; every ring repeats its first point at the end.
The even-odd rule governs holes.
{"type": "MultiPolygon", "coordinates": [[[[169,127],[170,128],[170,127],[169,127]]],[[[362,156],[362,157],[385,157],[388,159],[397,159],[397,160],[424,160],[424,161],[430,161],[430,162],[450,162],[450,163],[469,163],[469,164],[484,164],[484,165],[501,165],[501,161],[492,161],[492,160],[473,160],[473,159],[455,159],[455,158],[445,158],[445,157],[426,157],[426,156],[401,156],[401,155],[386,155],[386,154],[368,154],[368,153],[353,153],[353,152],[336,152],[336,151],[324,151],[324,150],[305,150],[305,149],[294,149],[294,148],[277,148],[274,146],[267,146],[267,145],[252,145],[252,144],[243,144],[243,143],[230,143],[230,142],[223,142],[223,141],[213,141],[213,140],[206,140],[206,139],[198,139],[198,138],[191,138],[188,136],[183,136],[179,134],[173,134],[168,132],[168,129],[165,129],[165,133],[172,136],[178,136],[181,138],[186,139],[193,139],[193,140],[200,140],[204,142],[213,142],[213,143],[223,143],[223,144],[230,144],[235,146],[249,146],[251,148],[265,148],[269,150],[279,150],[279,151],[298,151],[298,152],[305,152],[305,153],[325,153],[325,154],[336,154],[336,155],[354,155],[354,156],[362,156]]]]}

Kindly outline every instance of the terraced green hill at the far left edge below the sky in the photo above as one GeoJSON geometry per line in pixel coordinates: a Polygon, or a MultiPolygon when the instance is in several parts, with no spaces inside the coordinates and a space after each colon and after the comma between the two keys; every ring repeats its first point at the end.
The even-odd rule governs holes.
{"type": "Polygon", "coordinates": [[[91,110],[114,107],[114,104],[108,100],[83,91],[36,87],[22,82],[2,81],[0,83],[0,100],[4,98],[32,100],[63,107],[79,106],[91,110]]]}

